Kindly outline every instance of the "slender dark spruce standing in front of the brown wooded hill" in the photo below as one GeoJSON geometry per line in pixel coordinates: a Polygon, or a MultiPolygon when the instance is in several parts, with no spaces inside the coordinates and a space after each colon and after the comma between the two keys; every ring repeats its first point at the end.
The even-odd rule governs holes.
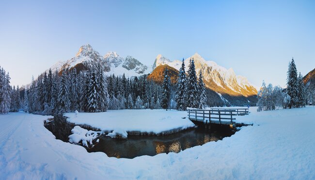
{"type": "Polygon", "coordinates": [[[167,109],[170,107],[171,101],[171,80],[168,74],[168,69],[164,69],[164,80],[162,84],[162,102],[161,106],[163,109],[167,109]]]}

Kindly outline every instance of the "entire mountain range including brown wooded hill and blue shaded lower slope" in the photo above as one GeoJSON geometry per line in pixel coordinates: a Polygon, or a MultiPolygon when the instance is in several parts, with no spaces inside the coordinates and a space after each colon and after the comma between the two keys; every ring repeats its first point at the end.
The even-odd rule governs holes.
{"type": "MultiPolygon", "coordinates": [[[[209,106],[240,106],[255,105],[257,102],[257,90],[243,76],[236,76],[232,68],[226,69],[213,61],[206,61],[198,53],[185,59],[185,66],[188,69],[189,59],[194,59],[196,73],[202,71],[206,86],[207,104],[209,106]]],[[[169,69],[171,81],[176,83],[178,70],[182,61],[170,61],[162,55],[157,55],[151,67],[143,65],[132,56],[126,58],[119,56],[116,52],[108,52],[104,56],[92,48],[91,45],[83,45],[79,48],[75,57],[67,61],[59,61],[51,66],[52,71],[59,74],[65,69],[74,69],[79,72],[88,70],[95,65],[101,65],[105,74],[110,76],[123,75],[126,77],[147,75],[148,80],[160,83],[163,81],[163,71],[169,69]]],[[[48,70],[47,70],[48,71],[48,70]]]]}

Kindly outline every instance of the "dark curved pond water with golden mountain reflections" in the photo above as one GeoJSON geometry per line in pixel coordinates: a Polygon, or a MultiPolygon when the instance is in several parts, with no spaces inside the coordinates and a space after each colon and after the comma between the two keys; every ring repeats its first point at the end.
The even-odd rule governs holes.
{"type": "MultiPolygon", "coordinates": [[[[68,136],[74,124],[67,123],[63,117],[55,117],[45,127],[51,131],[57,139],[68,142],[68,136]]],[[[83,127],[84,128],[84,127],[83,127]]],[[[99,143],[87,148],[88,152],[104,152],[109,157],[135,158],[137,156],[154,156],[159,153],[180,152],[190,147],[203,145],[210,141],[218,141],[224,137],[233,135],[235,131],[228,128],[212,127],[206,130],[204,127],[192,128],[171,135],[128,135],[127,139],[112,139],[108,136],[99,136],[99,143]]]]}

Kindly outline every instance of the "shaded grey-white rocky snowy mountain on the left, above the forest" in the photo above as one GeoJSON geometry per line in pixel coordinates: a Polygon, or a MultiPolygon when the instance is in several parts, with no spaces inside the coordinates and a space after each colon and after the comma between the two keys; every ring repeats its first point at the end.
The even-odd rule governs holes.
{"type": "Polygon", "coordinates": [[[96,65],[101,65],[105,74],[108,75],[113,73],[116,75],[122,75],[125,73],[126,76],[140,76],[145,73],[149,73],[148,67],[132,56],[123,58],[116,52],[112,51],[108,52],[104,56],[101,56],[100,53],[94,50],[89,44],[81,46],[75,57],[67,61],[60,61],[50,68],[60,72],[67,68],[77,68],[82,70],[96,65]]]}

